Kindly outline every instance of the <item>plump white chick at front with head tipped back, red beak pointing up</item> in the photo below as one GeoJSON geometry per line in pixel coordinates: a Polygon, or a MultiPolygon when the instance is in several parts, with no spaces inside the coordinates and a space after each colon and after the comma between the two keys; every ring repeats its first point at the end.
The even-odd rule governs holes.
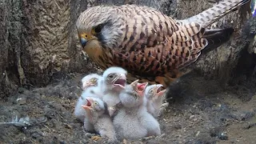
{"type": "Polygon", "coordinates": [[[158,121],[147,112],[143,104],[144,91],[147,83],[139,83],[138,80],[126,86],[119,95],[122,102],[122,108],[114,117],[114,128],[118,140],[130,139],[138,140],[152,135],[160,135],[160,126],[158,121]]]}

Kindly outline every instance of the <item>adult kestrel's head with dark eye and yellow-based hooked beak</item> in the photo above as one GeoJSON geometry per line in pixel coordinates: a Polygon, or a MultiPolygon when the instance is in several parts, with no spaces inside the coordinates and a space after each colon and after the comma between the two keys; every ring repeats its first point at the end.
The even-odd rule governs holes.
{"type": "Polygon", "coordinates": [[[117,6],[94,6],[82,12],[76,26],[83,50],[93,46],[117,47],[125,30],[121,12],[117,6]]]}

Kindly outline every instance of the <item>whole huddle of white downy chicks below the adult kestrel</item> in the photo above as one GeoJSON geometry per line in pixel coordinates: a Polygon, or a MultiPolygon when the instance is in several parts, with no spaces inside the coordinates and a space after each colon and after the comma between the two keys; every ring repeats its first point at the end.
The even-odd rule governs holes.
{"type": "MultiPolygon", "coordinates": [[[[138,140],[161,134],[157,121],[161,113],[162,85],[126,84],[126,70],[110,67],[102,76],[89,74],[82,78],[82,95],[74,108],[84,129],[97,132],[108,142],[138,140]]],[[[166,105],[165,105],[166,106],[166,105]]]]}

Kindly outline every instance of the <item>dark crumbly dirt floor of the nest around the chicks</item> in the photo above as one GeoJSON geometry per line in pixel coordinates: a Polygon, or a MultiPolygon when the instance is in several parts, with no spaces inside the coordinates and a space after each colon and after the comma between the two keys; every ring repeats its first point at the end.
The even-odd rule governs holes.
{"type": "MultiPolygon", "coordinates": [[[[19,88],[1,101],[1,143],[100,143],[74,118],[82,74],[58,78],[49,86],[19,88]],[[16,126],[12,119],[26,118],[16,126]]],[[[167,107],[158,118],[162,135],[134,143],[256,143],[256,78],[235,78],[229,86],[187,74],[170,86],[167,107]]],[[[15,120],[15,119],[14,119],[15,120]]],[[[19,119],[16,119],[18,122],[19,119]]],[[[129,143],[128,141],[126,141],[129,143]]]]}

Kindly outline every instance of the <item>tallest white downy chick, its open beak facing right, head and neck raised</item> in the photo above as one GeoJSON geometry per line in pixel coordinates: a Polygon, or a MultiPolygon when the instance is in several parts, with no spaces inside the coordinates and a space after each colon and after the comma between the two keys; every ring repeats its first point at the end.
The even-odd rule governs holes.
{"type": "Polygon", "coordinates": [[[103,101],[106,102],[110,117],[114,116],[120,103],[119,94],[126,86],[127,71],[121,67],[110,67],[102,74],[103,101]]]}

